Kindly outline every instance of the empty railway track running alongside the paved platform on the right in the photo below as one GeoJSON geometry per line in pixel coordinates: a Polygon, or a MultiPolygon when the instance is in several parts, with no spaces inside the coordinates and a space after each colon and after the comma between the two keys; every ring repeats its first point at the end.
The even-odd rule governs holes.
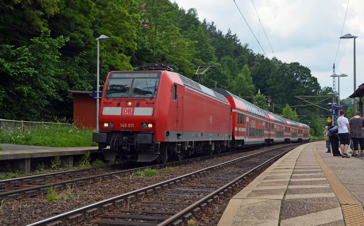
{"type": "Polygon", "coordinates": [[[183,225],[195,218],[209,221],[223,199],[228,199],[296,147],[287,145],[254,153],[194,171],[151,186],[124,192],[100,202],[27,224],[63,225],[183,225]],[[205,217],[204,217],[205,216],[205,217]],[[206,217],[207,216],[207,217],[206,217]]]}

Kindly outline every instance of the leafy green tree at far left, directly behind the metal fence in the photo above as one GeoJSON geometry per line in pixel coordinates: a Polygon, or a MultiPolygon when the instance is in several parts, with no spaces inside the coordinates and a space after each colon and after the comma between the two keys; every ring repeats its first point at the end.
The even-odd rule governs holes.
{"type": "MultiPolygon", "coordinates": [[[[61,101],[57,89],[67,84],[57,77],[59,48],[68,38],[49,37],[50,31],[31,39],[28,47],[0,46],[0,117],[15,120],[41,120],[54,100],[61,101]]],[[[63,90],[63,91],[67,91],[63,90]]]]}

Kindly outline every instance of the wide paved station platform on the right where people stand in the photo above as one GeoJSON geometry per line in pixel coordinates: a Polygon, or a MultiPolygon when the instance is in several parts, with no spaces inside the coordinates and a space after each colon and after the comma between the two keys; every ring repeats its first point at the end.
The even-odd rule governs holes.
{"type": "Polygon", "coordinates": [[[230,200],[218,226],[364,225],[364,158],[326,151],[317,141],[287,153],[230,200]]]}

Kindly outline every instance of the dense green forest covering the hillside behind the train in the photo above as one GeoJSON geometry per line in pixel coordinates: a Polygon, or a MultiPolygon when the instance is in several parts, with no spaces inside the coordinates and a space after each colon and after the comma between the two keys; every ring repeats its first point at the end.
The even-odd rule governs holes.
{"type": "Polygon", "coordinates": [[[68,90],[95,90],[100,35],[110,37],[99,41],[100,83],[110,70],[142,63],[170,63],[197,81],[193,65],[214,64],[202,77],[207,87],[277,114],[292,106],[292,120],[310,122],[317,135],[329,115],[317,96],[331,88],[321,89],[307,67],[254,53],[244,37],[223,34],[194,8],[168,0],[4,0],[0,12],[0,118],[71,119],[68,90]]]}

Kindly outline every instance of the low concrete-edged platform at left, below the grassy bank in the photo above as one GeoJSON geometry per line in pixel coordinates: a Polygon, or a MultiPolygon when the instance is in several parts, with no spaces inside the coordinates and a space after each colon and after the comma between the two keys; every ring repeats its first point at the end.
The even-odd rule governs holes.
{"type": "Polygon", "coordinates": [[[30,172],[30,166],[33,161],[39,161],[42,158],[60,156],[64,165],[73,165],[75,156],[96,153],[98,147],[76,147],[76,148],[55,148],[43,146],[29,146],[17,144],[0,144],[0,164],[10,164],[12,167],[23,171],[30,172]]]}

